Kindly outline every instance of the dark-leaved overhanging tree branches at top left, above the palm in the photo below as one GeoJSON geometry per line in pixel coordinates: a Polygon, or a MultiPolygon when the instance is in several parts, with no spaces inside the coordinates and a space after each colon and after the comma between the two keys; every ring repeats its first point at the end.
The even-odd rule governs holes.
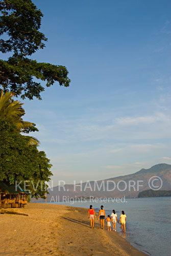
{"type": "Polygon", "coordinates": [[[44,48],[47,40],[39,31],[41,11],[31,0],[0,0],[0,11],[0,51],[11,53],[7,60],[0,60],[0,86],[4,91],[12,91],[22,99],[41,99],[44,88],[36,79],[46,81],[47,87],[55,82],[68,87],[66,67],[40,63],[29,57],[44,48]]]}

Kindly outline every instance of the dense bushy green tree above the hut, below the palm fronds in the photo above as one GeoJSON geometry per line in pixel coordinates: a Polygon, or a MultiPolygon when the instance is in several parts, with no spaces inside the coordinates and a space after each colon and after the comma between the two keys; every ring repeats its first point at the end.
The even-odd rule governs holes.
{"type": "MultiPolygon", "coordinates": [[[[16,133],[15,123],[0,117],[0,181],[17,184],[20,181],[32,181],[38,187],[29,183],[32,197],[44,197],[45,181],[50,181],[50,160],[43,151],[38,151],[36,145],[28,144],[29,138],[16,133]],[[43,181],[41,186],[40,181],[43,181]]],[[[23,188],[23,182],[21,187],[23,188]]]]}

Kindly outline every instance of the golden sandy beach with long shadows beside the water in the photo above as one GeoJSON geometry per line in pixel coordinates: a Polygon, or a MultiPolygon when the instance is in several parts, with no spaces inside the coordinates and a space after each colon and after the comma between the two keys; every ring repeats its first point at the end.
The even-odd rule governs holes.
{"type": "Polygon", "coordinates": [[[107,231],[106,223],[100,229],[97,218],[91,229],[85,208],[29,203],[0,211],[0,255],[146,255],[124,233],[107,231]]]}

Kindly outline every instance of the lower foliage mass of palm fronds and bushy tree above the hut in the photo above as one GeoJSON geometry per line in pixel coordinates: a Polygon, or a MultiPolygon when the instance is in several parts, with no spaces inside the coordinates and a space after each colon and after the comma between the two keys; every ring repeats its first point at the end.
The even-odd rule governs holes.
{"type": "Polygon", "coordinates": [[[3,94],[3,90],[0,95],[0,181],[22,181],[20,186],[27,184],[32,197],[43,197],[52,165],[45,153],[37,150],[36,138],[20,134],[38,130],[35,124],[23,121],[23,103],[13,100],[13,96],[10,92],[3,94]]]}

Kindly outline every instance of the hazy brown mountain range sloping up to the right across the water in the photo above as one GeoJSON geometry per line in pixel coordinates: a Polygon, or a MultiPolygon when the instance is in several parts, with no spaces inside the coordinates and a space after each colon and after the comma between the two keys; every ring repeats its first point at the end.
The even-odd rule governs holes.
{"type": "MultiPolygon", "coordinates": [[[[138,193],[147,189],[171,190],[171,165],[160,163],[150,169],[141,169],[130,175],[115,178],[70,184],[64,187],[53,187],[53,191],[48,189],[47,201],[63,201],[63,199],[73,197],[97,197],[97,198],[134,198],[138,193]],[[157,177],[159,178],[157,178],[157,177]],[[65,191],[64,191],[65,189],[65,191]]],[[[35,201],[32,199],[32,202],[35,201]]],[[[37,201],[37,200],[36,200],[37,201]]],[[[38,202],[44,201],[39,199],[38,202]]]]}

